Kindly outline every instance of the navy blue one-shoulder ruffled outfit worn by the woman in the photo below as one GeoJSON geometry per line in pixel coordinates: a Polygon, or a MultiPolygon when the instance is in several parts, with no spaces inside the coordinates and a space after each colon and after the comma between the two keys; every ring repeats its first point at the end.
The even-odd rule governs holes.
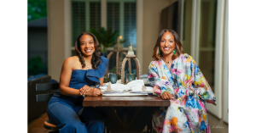
{"type": "MultiPolygon", "coordinates": [[[[105,75],[108,68],[108,58],[101,57],[102,64],[97,66],[97,69],[74,69],[69,82],[69,87],[80,89],[84,85],[95,86],[99,84],[99,78],[105,75]]],[[[78,117],[79,110],[81,110],[84,97],[76,96],[69,97],[62,95],[60,89],[55,92],[50,98],[47,108],[49,119],[58,124],[61,132],[103,132],[104,122],[102,125],[101,114],[92,114],[91,108],[84,108],[83,114],[78,117]],[[77,109],[74,109],[77,108],[77,109]],[[90,117],[91,116],[91,117],[90,117]],[[81,124],[79,119],[90,118],[90,122],[86,127],[81,124]],[[95,118],[95,119],[94,119],[95,118]],[[87,130],[86,130],[87,128],[87,130]],[[88,129],[91,128],[91,129],[88,129]]],[[[87,120],[86,119],[86,120],[87,120]]]]}

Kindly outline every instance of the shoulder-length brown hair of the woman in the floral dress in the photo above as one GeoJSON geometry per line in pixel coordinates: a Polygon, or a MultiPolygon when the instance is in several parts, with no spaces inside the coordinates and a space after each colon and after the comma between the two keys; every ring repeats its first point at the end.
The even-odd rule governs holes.
{"type": "Polygon", "coordinates": [[[156,40],[156,43],[154,45],[154,52],[153,52],[152,58],[154,58],[157,61],[160,59],[160,57],[163,56],[163,53],[159,53],[160,52],[160,42],[161,42],[162,36],[166,32],[170,32],[174,36],[174,42],[175,42],[175,46],[176,46],[176,53],[174,55],[172,55],[172,60],[179,57],[179,55],[184,52],[182,43],[179,41],[177,33],[174,30],[164,29],[164,30],[160,31],[160,34],[159,34],[159,36],[156,40]]]}

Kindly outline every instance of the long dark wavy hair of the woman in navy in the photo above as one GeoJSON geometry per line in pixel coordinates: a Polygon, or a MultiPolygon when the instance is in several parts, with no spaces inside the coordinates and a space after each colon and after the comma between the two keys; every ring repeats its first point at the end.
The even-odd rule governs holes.
{"type": "Polygon", "coordinates": [[[79,35],[77,41],[75,42],[75,51],[77,53],[77,56],[79,57],[79,61],[82,64],[82,68],[84,69],[85,67],[85,63],[84,63],[84,58],[83,55],[81,53],[81,49],[80,49],[80,39],[82,36],[84,35],[90,35],[93,38],[94,41],[94,47],[95,47],[95,52],[92,54],[92,58],[90,60],[90,64],[92,64],[92,69],[97,69],[97,66],[99,64],[102,64],[101,61],[101,51],[100,51],[100,47],[99,47],[99,42],[96,39],[96,36],[94,36],[93,34],[91,34],[90,32],[83,32],[79,35]]]}

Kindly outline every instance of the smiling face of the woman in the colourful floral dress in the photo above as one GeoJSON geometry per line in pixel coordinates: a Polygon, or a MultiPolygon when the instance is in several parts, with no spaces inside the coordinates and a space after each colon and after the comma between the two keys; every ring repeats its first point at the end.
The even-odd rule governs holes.
{"type": "Polygon", "coordinates": [[[160,41],[160,51],[163,56],[171,54],[176,48],[174,36],[171,32],[167,31],[161,38],[160,41]]]}

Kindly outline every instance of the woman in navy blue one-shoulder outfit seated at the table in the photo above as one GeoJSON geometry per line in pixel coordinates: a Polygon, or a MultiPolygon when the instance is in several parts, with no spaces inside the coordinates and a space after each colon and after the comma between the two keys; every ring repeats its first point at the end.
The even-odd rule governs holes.
{"type": "Polygon", "coordinates": [[[61,69],[60,89],[50,98],[47,114],[60,133],[102,133],[104,121],[96,108],[83,107],[83,96],[99,96],[108,58],[101,57],[99,43],[90,32],[79,35],[77,56],[67,58],[61,69]],[[86,122],[85,122],[86,120],[86,122]]]}

